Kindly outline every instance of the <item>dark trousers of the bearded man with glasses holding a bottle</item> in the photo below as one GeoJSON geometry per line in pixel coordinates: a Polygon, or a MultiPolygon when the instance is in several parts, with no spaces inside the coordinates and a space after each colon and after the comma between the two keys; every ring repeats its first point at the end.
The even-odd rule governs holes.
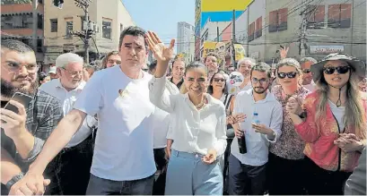
{"type": "Polygon", "coordinates": [[[267,164],[248,166],[230,155],[228,193],[230,195],[264,195],[267,181],[267,164]]]}

